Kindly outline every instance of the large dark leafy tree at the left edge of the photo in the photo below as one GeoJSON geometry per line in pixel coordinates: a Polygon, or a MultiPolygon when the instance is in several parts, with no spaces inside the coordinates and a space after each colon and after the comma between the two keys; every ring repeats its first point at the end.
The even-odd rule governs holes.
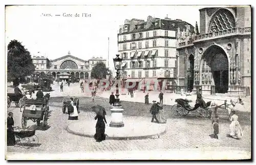
{"type": "Polygon", "coordinates": [[[34,73],[35,66],[32,62],[30,52],[24,48],[21,42],[12,40],[8,44],[7,49],[7,76],[9,78],[20,78],[23,80],[25,76],[34,73]]]}

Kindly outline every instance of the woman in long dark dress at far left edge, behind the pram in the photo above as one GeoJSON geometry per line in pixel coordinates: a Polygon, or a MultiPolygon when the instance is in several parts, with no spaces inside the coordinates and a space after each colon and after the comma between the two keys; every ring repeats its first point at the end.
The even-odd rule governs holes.
{"type": "Polygon", "coordinates": [[[13,132],[13,113],[9,112],[7,117],[7,146],[14,146],[15,145],[15,135],[13,132]]]}

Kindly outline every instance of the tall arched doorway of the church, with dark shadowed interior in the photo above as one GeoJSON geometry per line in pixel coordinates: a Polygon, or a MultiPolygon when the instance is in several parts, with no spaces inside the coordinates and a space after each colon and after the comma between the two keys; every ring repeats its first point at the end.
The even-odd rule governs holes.
{"type": "Polygon", "coordinates": [[[217,45],[210,46],[202,56],[201,81],[211,93],[228,91],[228,59],[226,53],[217,45]]]}

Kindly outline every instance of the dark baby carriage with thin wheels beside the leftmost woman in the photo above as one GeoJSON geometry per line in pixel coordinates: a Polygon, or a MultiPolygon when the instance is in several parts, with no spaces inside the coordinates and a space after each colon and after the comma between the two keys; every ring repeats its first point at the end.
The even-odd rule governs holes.
{"type": "Polygon", "coordinates": [[[35,129],[23,129],[14,127],[14,135],[16,140],[24,147],[25,144],[38,145],[38,137],[35,135],[35,129]]]}

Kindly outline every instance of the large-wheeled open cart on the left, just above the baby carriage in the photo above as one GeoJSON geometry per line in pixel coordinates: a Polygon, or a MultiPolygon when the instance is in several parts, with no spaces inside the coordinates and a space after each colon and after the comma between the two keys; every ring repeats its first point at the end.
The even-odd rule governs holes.
{"type": "Polygon", "coordinates": [[[49,106],[46,100],[25,100],[20,105],[20,112],[22,113],[22,128],[27,127],[27,121],[31,120],[40,125],[40,121],[43,121],[42,126],[47,126],[49,106]]]}

